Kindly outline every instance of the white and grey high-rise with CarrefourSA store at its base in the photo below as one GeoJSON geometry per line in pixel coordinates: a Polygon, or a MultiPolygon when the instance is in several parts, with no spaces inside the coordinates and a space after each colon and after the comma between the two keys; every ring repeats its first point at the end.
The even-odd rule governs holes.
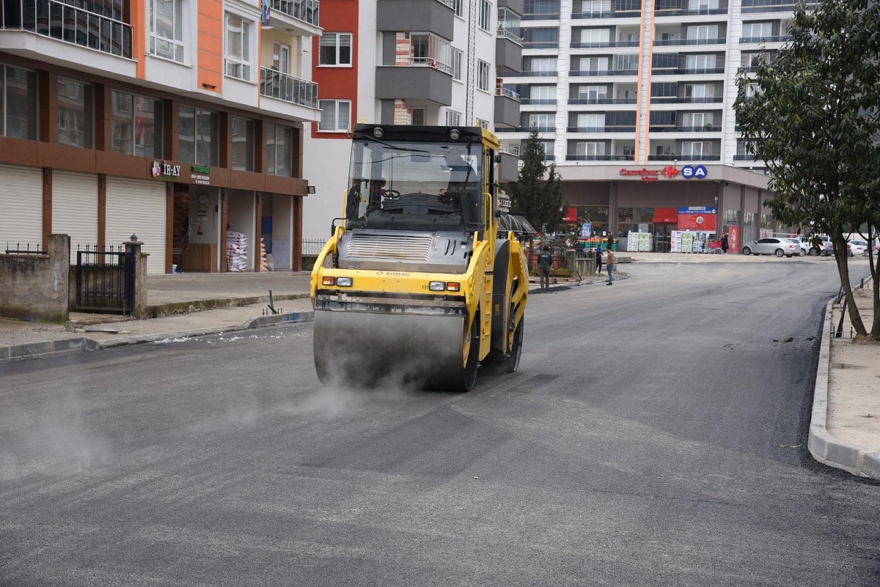
{"type": "Polygon", "coordinates": [[[568,219],[658,236],[678,210],[717,213],[743,241],[775,228],[763,162],[738,136],[740,71],[788,40],[792,0],[524,0],[523,71],[504,79],[539,130],[568,219]]]}

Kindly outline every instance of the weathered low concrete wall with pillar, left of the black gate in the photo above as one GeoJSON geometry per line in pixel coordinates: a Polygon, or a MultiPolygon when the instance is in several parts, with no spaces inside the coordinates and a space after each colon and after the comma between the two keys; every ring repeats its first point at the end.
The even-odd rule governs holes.
{"type": "Polygon", "coordinates": [[[67,322],[70,236],[49,234],[46,255],[0,255],[0,315],[67,322]]]}

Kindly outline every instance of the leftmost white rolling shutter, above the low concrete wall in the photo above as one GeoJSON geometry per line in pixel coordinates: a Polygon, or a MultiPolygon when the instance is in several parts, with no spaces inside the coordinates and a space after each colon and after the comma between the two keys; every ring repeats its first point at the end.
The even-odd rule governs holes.
{"type": "Polygon", "coordinates": [[[6,249],[42,248],[43,170],[0,165],[0,253],[6,249]],[[8,247],[7,247],[8,243],[8,247]]]}

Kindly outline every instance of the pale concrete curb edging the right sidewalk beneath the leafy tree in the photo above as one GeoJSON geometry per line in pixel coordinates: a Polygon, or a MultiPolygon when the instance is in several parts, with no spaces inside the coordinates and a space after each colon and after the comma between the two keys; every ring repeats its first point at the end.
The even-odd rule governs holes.
{"type": "Polygon", "coordinates": [[[807,448],[819,463],[843,469],[854,475],[880,479],[880,452],[843,442],[828,433],[828,375],[831,370],[832,305],[825,308],[825,324],[819,347],[819,365],[816,370],[816,389],[813,391],[813,411],[810,415],[810,435],[807,448]]]}

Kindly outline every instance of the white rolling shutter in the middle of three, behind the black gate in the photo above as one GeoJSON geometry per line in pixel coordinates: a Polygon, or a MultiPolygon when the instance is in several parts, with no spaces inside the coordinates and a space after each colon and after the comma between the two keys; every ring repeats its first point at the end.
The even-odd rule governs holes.
{"type": "Polygon", "coordinates": [[[52,232],[70,234],[70,258],[77,248],[98,246],[98,175],[52,172],[52,232]]]}

